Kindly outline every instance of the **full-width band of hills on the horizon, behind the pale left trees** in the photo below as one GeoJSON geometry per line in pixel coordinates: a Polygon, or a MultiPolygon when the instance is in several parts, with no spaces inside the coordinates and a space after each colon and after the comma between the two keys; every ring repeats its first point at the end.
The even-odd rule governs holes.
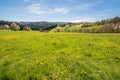
{"type": "MultiPolygon", "coordinates": [[[[9,25],[13,22],[0,20],[0,26],[9,25]]],[[[114,17],[96,22],[14,22],[23,30],[29,26],[32,30],[57,30],[58,32],[85,32],[85,33],[119,33],[120,17],[114,17]]]]}

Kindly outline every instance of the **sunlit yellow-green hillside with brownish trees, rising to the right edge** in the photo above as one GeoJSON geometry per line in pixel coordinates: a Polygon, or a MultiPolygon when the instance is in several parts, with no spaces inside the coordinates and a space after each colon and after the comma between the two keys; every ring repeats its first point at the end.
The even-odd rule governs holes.
{"type": "Polygon", "coordinates": [[[79,22],[58,25],[56,32],[82,32],[82,33],[120,33],[120,17],[110,18],[96,22],[79,22]],[[70,29],[78,26],[79,28],[70,29]]]}

